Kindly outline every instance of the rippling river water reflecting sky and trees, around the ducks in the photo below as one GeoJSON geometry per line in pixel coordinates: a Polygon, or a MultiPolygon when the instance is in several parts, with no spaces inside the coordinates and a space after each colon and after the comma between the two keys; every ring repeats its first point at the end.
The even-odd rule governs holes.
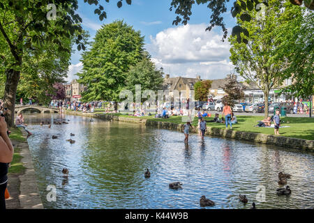
{"type": "Polygon", "coordinates": [[[58,117],[25,115],[35,133],[28,141],[45,208],[200,208],[202,195],[216,203],[209,208],[251,208],[253,201],[257,208],[314,208],[313,153],[215,137],[202,142],[195,134],[186,146],[181,132],[81,116],[39,125],[58,117]],[[276,194],[279,171],[292,174],[289,197],[276,194]],[[169,189],[174,181],[183,183],[181,190],[169,189]],[[47,201],[47,185],[56,185],[56,202],[47,201]],[[264,202],[256,200],[259,186],[264,202]],[[239,194],[248,197],[246,206],[239,194]]]}

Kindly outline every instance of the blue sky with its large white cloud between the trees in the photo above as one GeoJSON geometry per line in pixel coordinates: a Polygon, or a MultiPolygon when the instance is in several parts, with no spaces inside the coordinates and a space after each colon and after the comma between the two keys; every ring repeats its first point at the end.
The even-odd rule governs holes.
{"type": "MultiPolygon", "coordinates": [[[[107,12],[107,19],[100,21],[98,15],[94,14],[96,6],[79,0],[77,13],[82,17],[83,28],[89,31],[91,38],[94,38],[96,30],[102,24],[114,20],[124,20],[135,30],[140,30],[145,37],[145,48],[156,67],[163,66],[164,72],[173,77],[201,75],[203,79],[216,79],[227,75],[232,69],[229,61],[230,45],[227,41],[220,41],[223,36],[220,27],[211,32],[204,31],[210,19],[207,5],[195,4],[188,26],[175,26],[172,21],[177,15],[169,10],[170,3],[171,0],[132,0],[132,5],[129,6],[124,1],[124,6],[118,8],[117,0],[110,0],[110,3],[100,0],[107,12]]],[[[228,29],[235,25],[230,8],[231,3],[224,14],[228,29]]],[[[82,69],[80,53],[76,51],[71,58],[69,81],[82,69]]]]}

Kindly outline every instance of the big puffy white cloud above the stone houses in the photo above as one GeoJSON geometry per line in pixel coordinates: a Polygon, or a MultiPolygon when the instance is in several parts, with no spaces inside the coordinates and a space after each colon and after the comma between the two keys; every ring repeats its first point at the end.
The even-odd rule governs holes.
{"type": "Polygon", "coordinates": [[[206,24],[188,24],[160,31],[147,45],[151,61],[172,76],[223,78],[233,70],[230,44],[222,33],[205,31],[206,24]]]}

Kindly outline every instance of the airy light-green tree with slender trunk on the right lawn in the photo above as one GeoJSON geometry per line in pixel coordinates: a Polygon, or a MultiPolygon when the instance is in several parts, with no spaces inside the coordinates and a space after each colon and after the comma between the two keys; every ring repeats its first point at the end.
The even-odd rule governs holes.
{"type": "Polygon", "coordinates": [[[248,30],[248,33],[241,33],[247,44],[239,43],[237,35],[229,38],[232,45],[230,59],[237,72],[248,81],[255,82],[264,93],[265,118],[268,116],[269,91],[285,79],[283,70],[288,64],[283,54],[279,56],[277,53],[281,47],[277,34],[286,23],[293,24],[297,17],[302,17],[298,13],[301,8],[286,1],[269,0],[268,4],[262,19],[257,19],[254,11],[250,14],[251,22],[242,22],[237,16],[237,23],[248,30]]]}

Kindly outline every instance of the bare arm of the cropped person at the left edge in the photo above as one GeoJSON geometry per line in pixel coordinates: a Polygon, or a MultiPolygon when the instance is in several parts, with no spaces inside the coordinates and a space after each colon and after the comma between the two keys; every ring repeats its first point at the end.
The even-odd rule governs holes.
{"type": "Polygon", "coordinates": [[[6,121],[0,117],[0,162],[12,162],[14,148],[6,134],[6,121]]]}

